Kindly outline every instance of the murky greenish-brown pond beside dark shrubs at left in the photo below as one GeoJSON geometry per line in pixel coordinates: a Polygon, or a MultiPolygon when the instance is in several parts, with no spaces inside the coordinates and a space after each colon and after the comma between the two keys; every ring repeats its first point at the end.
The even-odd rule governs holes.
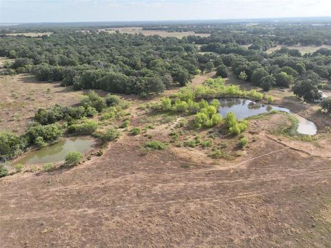
{"type": "Polygon", "coordinates": [[[64,161],[68,152],[81,152],[84,154],[95,145],[96,141],[88,137],[66,138],[54,145],[28,152],[26,156],[23,156],[23,158],[19,159],[16,163],[22,165],[56,163],[64,161]]]}

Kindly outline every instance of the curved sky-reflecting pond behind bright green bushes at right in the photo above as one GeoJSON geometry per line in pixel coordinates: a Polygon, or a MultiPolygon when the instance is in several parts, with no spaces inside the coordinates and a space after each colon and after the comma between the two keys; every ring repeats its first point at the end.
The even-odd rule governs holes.
{"type": "MultiPolygon", "coordinates": [[[[219,107],[219,114],[225,116],[228,112],[234,112],[239,120],[247,118],[250,116],[255,116],[257,114],[263,114],[270,112],[272,110],[278,110],[281,112],[286,112],[292,114],[289,109],[285,107],[277,107],[273,105],[263,105],[261,103],[255,103],[248,99],[220,99],[221,106],[219,107]]],[[[298,114],[292,114],[298,121],[299,134],[310,134],[314,135],[317,133],[317,127],[311,121],[299,116],[298,114]]]]}

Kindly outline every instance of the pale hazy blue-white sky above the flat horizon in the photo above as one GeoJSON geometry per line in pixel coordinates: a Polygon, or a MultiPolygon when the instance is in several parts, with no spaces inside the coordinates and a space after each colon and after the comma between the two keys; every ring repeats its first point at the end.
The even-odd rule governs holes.
{"type": "Polygon", "coordinates": [[[331,0],[0,0],[0,23],[326,16],[331,0]]]}

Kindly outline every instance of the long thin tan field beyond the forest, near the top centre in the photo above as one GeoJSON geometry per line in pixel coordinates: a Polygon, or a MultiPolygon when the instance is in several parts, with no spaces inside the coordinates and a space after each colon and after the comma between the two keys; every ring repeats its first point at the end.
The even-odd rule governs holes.
{"type": "Polygon", "coordinates": [[[143,30],[143,28],[103,28],[100,29],[99,31],[105,31],[109,33],[113,33],[115,31],[119,31],[121,33],[126,33],[126,34],[144,34],[144,35],[155,35],[158,34],[161,37],[176,37],[176,38],[183,38],[188,35],[196,35],[199,37],[209,37],[210,34],[195,34],[194,32],[166,32],[163,30],[143,30]]]}

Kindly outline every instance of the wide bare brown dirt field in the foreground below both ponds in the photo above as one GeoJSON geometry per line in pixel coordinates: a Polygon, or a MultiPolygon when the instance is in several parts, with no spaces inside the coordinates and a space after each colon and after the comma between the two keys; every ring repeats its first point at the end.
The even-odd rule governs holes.
{"type": "MultiPolygon", "coordinates": [[[[152,124],[148,134],[167,149],[148,151],[146,134],[123,132],[77,167],[0,178],[0,247],[331,245],[330,133],[310,143],[275,136],[284,116],[272,114],[250,120],[241,156],[214,159],[171,145],[181,116],[151,116],[132,101],[131,125],[152,124]]],[[[214,142],[232,142],[213,132],[214,142]]]]}

